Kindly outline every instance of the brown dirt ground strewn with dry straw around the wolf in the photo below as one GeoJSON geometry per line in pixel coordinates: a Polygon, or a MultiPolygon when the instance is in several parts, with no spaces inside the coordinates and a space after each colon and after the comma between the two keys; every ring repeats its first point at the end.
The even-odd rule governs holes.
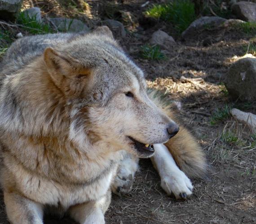
{"type": "MultiPolygon", "coordinates": [[[[61,1],[24,1],[23,7],[31,6],[31,2],[49,16],[74,17],[65,8],[63,12],[61,6],[53,7],[56,2],[60,4],[61,1]]],[[[210,123],[217,109],[221,110],[226,106],[256,113],[255,102],[230,99],[222,83],[230,65],[246,53],[248,41],[254,35],[244,34],[235,27],[226,27],[205,30],[184,41],[170,24],[147,21],[142,16],[145,9],[141,8],[141,4],[145,2],[133,0],[118,4],[119,10],[137,15],[134,24],[139,24],[139,28],[134,24],[126,25],[128,33],[120,43],[145,71],[149,87],[163,90],[170,99],[181,102],[181,120],[198,138],[210,168],[206,180],[193,180],[194,194],[187,201],[177,201],[161,189],[159,176],[150,159],[141,159],[132,191],[123,197],[113,195],[106,212],[106,223],[256,223],[256,146],[252,147],[250,130],[230,116],[215,125],[210,123]],[[140,47],[148,43],[151,34],[158,29],[173,35],[177,43],[169,51],[164,51],[166,60],[142,59],[140,47]],[[204,47],[203,40],[209,37],[212,41],[209,46],[204,47]],[[196,82],[182,81],[181,76],[202,79],[196,82]],[[237,137],[235,141],[225,138],[229,133],[237,137]]],[[[104,1],[88,3],[91,5],[91,12],[86,15],[78,13],[75,14],[76,17],[85,22],[90,21],[91,24],[97,23],[100,16],[106,17],[104,13],[98,13],[98,17],[93,16],[96,9],[102,12],[100,9],[104,9],[104,1]]],[[[120,18],[119,14],[115,16],[120,18]]],[[[0,223],[8,223],[3,203],[0,207],[0,223]]],[[[45,223],[71,224],[74,221],[69,218],[57,221],[48,217],[45,223]]]]}

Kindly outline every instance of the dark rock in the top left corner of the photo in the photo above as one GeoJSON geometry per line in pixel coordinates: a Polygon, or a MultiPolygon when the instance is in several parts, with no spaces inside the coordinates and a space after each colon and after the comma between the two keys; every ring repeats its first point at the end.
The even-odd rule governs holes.
{"type": "Polygon", "coordinates": [[[22,0],[0,0],[0,19],[13,21],[22,6],[22,0]]]}

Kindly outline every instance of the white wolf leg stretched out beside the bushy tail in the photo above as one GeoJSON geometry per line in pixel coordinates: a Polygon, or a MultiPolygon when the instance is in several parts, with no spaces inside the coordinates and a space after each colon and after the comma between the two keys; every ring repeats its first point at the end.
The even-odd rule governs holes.
{"type": "Polygon", "coordinates": [[[192,194],[193,185],[190,179],[176,165],[168,148],[163,144],[154,144],[155,153],[151,157],[154,167],[161,177],[161,187],[167,194],[186,198],[192,194]]]}

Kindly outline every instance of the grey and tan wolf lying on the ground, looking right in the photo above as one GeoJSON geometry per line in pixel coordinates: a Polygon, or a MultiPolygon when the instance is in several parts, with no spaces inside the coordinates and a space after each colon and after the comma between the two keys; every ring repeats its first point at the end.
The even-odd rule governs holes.
{"type": "Polygon", "coordinates": [[[130,190],[138,158],[152,157],[163,189],[186,198],[206,160],[173,113],[147,94],[144,73],[107,27],[16,40],[0,71],[9,221],[42,224],[51,212],[102,224],[111,190],[130,190]]]}

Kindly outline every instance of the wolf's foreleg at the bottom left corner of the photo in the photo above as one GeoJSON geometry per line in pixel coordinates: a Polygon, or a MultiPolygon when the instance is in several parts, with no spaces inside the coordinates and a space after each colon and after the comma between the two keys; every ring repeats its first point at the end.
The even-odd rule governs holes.
{"type": "Polygon", "coordinates": [[[6,213],[12,224],[43,224],[43,205],[4,191],[6,213]]]}

